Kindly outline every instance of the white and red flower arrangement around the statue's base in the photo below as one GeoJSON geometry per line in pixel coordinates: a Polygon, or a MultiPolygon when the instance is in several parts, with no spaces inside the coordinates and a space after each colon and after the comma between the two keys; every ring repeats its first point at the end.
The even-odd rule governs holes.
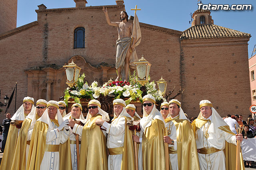
{"type": "MultiPolygon", "coordinates": [[[[138,78],[136,72],[130,75],[130,82],[127,81],[112,81],[103,84],[103,86],[98,86],[98,82],[94,81],[89,86],[87,82],[84,83],[85,75],[84,73],[78,77],[78,81],[71,88],[66,88],[64,101],[67,102],[70,98],[74,98],[75,102],[80,103],[81,98],[87,99],[97,99],[101,95],[116,98],[129,98],[126,103],[131,101],[140,100],[142,102],[142,91],[140,87],[142,86],[138,83],[138,78]]],[[[156,98],[156,102],[165,100],[162,96],[162,92],[156,88],[154,81],[145,84],[146,93],[151,94],[156,98]]]]}

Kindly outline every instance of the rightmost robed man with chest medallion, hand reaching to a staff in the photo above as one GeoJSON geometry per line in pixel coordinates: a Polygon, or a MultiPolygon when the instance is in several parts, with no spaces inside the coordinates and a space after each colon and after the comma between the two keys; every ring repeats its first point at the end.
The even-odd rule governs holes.
{"type": "MultiPolygon", "coordinates": [[[[236,140],[242,141],[242,134],[235,135],[231,132],[229,126],[213,108],[209,100],[202,100],[199,105],[200,114],[192,122],[192,126],[195,132],[200,169],[234,170],[235,167],[226,167],[230,167],[227,162],[235,163],[236,159],[228,158],[224,149],[227,142],[236,145],[236,140]]],[[[233,156],[235,155],[233,154],[233,156]]]]}

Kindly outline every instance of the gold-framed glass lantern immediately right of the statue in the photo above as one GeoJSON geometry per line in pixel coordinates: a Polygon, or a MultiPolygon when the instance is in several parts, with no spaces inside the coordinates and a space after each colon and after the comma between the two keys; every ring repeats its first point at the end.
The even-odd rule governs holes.
{"type": "Polygon", "coordinates": [[[151,64],[143,57],[139,61],[133,62],[136,67],[136,74],[138,76],[138,82],[144,86],[148,82],[148,76],[150,72],[151,64]]]}

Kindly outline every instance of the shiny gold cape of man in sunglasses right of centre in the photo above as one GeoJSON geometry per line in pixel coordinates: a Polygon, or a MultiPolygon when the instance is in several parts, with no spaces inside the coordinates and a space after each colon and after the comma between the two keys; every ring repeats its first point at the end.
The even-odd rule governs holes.
{"type": "Polygon", "coordinates": [[[143,170],[165,170],[164,122],[152,120],[142,138],[143,170]]]}

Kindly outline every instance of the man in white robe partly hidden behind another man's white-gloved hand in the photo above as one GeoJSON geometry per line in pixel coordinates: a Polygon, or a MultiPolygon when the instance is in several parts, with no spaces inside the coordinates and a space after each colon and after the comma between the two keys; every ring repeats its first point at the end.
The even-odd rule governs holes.
{"type": "MultiPolygon", "coordinates": [[[[63,117],[64,120],[74,119],[74,120],[84,120],[84,116],[82,114],[82,105],[79,103],[75,103],[71,106],[71,112],[63,117]]],[[[69,136],[70,140],[70,152],[71,152],[71,160],[72,160],[72,170],[77,170],[77,153],[76,153],[76,134],[72,131],[69,136]]],[[[79,150],[81,148],[81,138],[79,138],[79,150]]],[[[79,154],[79,153],[78,153],[79,154]]]]}

